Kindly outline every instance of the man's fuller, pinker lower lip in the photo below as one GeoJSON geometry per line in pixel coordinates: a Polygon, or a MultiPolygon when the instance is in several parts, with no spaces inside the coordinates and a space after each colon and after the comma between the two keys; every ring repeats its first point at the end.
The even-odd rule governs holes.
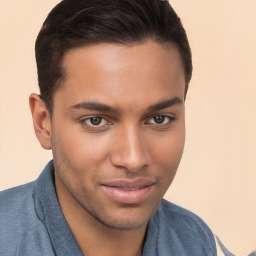
{"type": "Polygon", "coordinates": [[[149,196],[151,187],[152,185],[136,190],[123,190],[118,187],[103,186],[103,189],[115,202],[121,204],[139,204],[149,196]]]}

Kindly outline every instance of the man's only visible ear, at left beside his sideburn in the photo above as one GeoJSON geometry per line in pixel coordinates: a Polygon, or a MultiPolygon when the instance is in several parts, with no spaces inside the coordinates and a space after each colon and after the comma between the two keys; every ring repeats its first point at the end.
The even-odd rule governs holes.
{"type": "Polygon", "coordinates": [[[37,139],[44,149],[52,149],[51,118],[44,101],[38,94],[32,93],[29,97],[29,106],[37,139]]]}

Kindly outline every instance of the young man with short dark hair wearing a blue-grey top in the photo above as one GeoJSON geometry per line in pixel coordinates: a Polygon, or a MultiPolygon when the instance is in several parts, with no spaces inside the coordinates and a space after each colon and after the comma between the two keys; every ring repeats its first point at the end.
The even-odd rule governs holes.
{"type": "Polygon", "coordinates": [[[192,74],[169,3],[64,0],[38,35],[36,60],[30,108],[53,161],[1,193],[0,255],[217,255],[208,226],[163,200],[192,74]]]}

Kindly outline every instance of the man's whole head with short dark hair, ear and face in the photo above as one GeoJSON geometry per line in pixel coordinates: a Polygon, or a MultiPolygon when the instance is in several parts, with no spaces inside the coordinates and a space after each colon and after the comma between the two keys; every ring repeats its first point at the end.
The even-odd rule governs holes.
{"type": "Polygon", "coordinates": [[[178,16],[160,0],[64,0],[36,57],[41,95],[30,105],[62,209],[73,202],[68,211],[104,227],[145,227],[184,147],[192,64],[178,16]]]}

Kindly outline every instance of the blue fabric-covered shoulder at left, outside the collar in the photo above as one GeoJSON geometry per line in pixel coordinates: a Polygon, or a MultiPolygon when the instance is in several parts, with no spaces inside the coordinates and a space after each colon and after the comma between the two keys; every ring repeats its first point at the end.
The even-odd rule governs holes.
{"type": "Polygon", "coordinates": [[[23,250],[35,253],[33,248],[25,247],[48,240],[35,211],[34,187],[35,182],[30,182],[0,192],[0,255],[16,255],[23,250]]]}

